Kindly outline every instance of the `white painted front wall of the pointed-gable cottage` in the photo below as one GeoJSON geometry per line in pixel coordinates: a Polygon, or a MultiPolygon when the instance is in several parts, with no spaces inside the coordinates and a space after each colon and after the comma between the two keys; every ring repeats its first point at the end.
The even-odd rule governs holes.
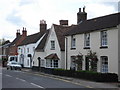
{"type": "Polygon", "coordinates": [[[49,31],[49,35],[47,38],[47,42],[45,45],[45,49],[44,52],[35,52],[35,56],[34,56],[34,66],[38,66],[38,56],[44,60],[44,65],[46,67],[46,59],[44,59],[46,56],[52,54],[52,53],[56,53],[59,57],[60,60],[58,60],[58,68],[65,68],[65,52],[60,50],[60,46],[58,43],[58,39],[56,36],[56,33],[54,31],[54,25],[52,25],[50,31],[49,31]],[[51,50],[51,40],[55,41],[55,50],[51,50]]]}

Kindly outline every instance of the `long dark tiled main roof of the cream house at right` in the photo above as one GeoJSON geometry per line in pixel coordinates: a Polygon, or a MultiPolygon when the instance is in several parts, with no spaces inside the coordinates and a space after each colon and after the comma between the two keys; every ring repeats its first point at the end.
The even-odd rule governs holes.
{"type": "Polygon", "coordinates": [[[98,31],[105,28],[115,27],[120,24],[120,13],[110,14],[90,20],[86,20],[77,25],[72,30],[68,31],[65,35],[75,35],[81,33],[87,33],[92,31],[98,31]]]}

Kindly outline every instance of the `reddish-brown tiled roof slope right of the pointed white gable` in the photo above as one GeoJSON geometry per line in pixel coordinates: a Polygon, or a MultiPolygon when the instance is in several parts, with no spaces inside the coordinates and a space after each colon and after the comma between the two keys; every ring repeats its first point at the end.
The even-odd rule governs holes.
{"type": "Polygon", "coordinates": [[[65,50],[65,36],[64,36],[64,34],[66,32],[68,32],[69,30],[71,30],[73,27],[75,27],[75,25],[72,25],[72,26],[62,26],[62,25],[55,25],[54,24],[56,36],[58,38],[58,42],[59,42],[61,51],[65,50]]]}

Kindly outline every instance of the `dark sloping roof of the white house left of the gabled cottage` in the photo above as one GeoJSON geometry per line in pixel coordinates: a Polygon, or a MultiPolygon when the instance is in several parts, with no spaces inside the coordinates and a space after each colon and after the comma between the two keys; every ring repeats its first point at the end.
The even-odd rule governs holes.
{"type": "Polygon", "coordinates": [[[36,43],[42,36],[43,33],[40,32],[29,35],[22,41],[22,43],[19,46],[36,43]]]}

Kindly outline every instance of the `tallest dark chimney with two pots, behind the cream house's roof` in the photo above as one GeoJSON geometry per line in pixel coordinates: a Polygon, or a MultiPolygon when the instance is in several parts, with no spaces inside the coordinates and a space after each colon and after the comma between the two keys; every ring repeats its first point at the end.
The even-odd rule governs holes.
{"type": "Polygon", "coordinates": [[[77,13],[77,24],[87,20],[87,13],[85,12],[85,6],[83,7],[83,12],[81,12],[81,8],[79,8],[79,12],[77,13]]]}

